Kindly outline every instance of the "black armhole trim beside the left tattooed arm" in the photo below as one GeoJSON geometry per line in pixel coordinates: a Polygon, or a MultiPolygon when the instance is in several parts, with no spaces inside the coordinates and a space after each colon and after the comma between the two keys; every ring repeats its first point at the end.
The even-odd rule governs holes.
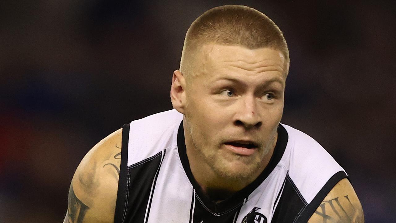
{"type": "Polygon", "coordinates": [[[125,124],[122,127],[120,177],[118,179],[118,192],[116,211],[114,213],[114,223],[122,223],[126,213],[126,194],[128,190],[126,185],[128,179],[128,139],[129,124],[125,124]]]}

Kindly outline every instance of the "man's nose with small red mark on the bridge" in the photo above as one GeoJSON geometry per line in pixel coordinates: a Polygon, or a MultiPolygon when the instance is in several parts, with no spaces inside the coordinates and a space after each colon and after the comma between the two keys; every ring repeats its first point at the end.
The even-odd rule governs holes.
{"type": "Polygon", "coordinates": [[[242,102],[243,103],[239,105],[234,124],[242,126],[245,129],[259,128],[263,122],[257,110],[255,98],[246,96],[242,102]]]}

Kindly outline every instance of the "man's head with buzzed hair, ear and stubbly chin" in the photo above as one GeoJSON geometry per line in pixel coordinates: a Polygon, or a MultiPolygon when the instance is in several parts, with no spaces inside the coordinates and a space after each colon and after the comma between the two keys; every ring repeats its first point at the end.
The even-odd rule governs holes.
{"type": "Polygon", "coordinates": [[[288,69],[286,41],[263,13],[221,6],[198,17],[171,88],[194,159],[225,179],[257,177],[276,143],[288,69]]]}

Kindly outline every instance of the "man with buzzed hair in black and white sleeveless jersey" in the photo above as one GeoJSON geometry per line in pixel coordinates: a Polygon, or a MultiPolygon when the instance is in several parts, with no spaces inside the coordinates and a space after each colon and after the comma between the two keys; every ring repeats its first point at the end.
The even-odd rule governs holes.
{"type": "Polygon", "coordinates": [[[278,27],[221,6],[187,31],[174,110],[124,125],[72,179],[64,222],[363,223],[342,167],[280,124],[289,52],[278,27]]]}

